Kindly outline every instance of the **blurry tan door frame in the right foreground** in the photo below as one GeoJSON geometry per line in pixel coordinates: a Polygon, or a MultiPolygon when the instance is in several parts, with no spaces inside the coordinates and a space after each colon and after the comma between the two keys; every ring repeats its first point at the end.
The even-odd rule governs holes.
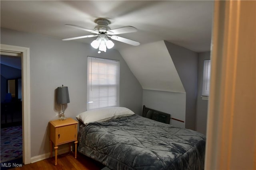
{"type": "Polygon", "coordinates": [[[214,1],[205,170],[256,169],[256,1],[214,1]]]}

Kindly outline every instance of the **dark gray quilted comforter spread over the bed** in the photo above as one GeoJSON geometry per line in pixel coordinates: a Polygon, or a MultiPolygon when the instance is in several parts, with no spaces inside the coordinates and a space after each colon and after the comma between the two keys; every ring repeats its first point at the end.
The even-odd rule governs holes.
{"type": "Polygon", "coordinates": [[[196,131],[132,115],[89,123],[78,151],[113,170],[200,170],[205,140],[196,131]]]}

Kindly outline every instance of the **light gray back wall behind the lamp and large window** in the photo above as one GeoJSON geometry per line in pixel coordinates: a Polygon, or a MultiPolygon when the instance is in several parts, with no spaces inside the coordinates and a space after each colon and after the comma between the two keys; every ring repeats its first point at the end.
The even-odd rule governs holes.
{"type": "Polygon", "coordinates": [[[86,111],[87,56],[120,60],[120,106],[142,110],[142,87],[120,53],[98,54],[88,44],[1,28],[1,43],[30,48],[31,156],[50,152],[48,122],[57,119],[54,93],[68,86],[66,116],[75,119],[86,111]]]}

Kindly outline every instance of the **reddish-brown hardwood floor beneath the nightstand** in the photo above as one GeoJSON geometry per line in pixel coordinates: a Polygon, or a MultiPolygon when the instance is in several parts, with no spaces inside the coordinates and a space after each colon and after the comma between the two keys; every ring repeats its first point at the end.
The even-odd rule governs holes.
{"type": "Polygon", "coordinates": [[[22,167],[12,168],[11,170],[101,170],[104,165],[88,158],[80,153],[77,159],[73,154],[65,153],[58,155],[58,164],[54,166],[54,156],[32,164],[22,165],[22,167]]]}

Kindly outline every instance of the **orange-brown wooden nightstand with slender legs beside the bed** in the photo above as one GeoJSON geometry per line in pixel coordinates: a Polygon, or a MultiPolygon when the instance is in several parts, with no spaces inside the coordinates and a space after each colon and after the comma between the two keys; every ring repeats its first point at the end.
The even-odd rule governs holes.
{"type": "Polygon", "coordinates": [[[66,120],[53,120],[50,121],[50,152],[52,157],[52,143],[54,143],[55,149],[55,166],[57,165],[57,150],[58,145],[70,142],[75,143],[75,158],[77,149],[77,124],[78,122],[72,118],[66,120]]]}

